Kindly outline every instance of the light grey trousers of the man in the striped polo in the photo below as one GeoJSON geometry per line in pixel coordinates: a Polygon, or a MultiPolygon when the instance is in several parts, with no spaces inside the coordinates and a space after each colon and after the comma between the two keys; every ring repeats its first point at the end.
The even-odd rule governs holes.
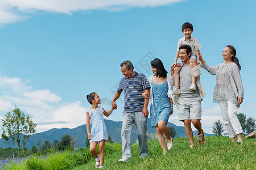
{"type": "Polygon", "coordinates": [[[142,112],[125,113],[123,112],[123,125],[121,131],[122,139],[122,158],[131,158],[131,130],[136,126],[139,141],[139,156],[147,156],[147,117],[142,112]]]}

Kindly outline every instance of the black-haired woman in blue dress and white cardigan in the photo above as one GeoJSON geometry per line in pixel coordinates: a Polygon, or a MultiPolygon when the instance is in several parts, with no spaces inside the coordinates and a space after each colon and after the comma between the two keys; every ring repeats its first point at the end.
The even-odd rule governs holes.
{"type": "Polygon", "coordinates": [[[164,69],[163,63],[159,58],[151,61],[150,65],[154,74],[148,78],[151,87],[150,96],[148,94],[144,95],[145,93],[142,96],[146,98],[150,97],[151,127],[155,127],[158,141],[165,155],[167,150],[164,135],[166,135],[168,150],[172,148],[172,138],[170,137],[170,131],[166,124],[170,115],[173,113],[172,87],[174,85],[171,76],[167,75],[167,71],[164,69]]]}

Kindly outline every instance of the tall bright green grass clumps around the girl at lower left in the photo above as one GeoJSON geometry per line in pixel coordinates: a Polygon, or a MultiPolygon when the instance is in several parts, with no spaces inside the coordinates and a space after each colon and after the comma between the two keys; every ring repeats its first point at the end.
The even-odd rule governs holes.
{"type": "MultiPolygon", "coordinates": [[[[104,148],[106,156],[114,154],[114,152],[120,151],[121,149],[119,148],[119,145],[116,144],[111,145],[109,143],[106,143],[104,148]],[[118,146],[118,148],[116,148],[115,146],[118,146]]],[[[33,154],[23,162],[11,162],[7,164],[3,169],[62,170],[75,168],[79,165],[92,162],[93,160],[95,159],[93,155],[90,153],[89,148],[81,148],[76,152],[73,152],[72,150],[66,150],[63,152],[52,152],[45,158],[41,154],[33,154]]]]}

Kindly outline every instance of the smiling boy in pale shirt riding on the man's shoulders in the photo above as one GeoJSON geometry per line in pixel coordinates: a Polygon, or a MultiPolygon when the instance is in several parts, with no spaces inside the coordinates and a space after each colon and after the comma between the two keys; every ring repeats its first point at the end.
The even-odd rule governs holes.
{"type": "MultiPolygon", "coordinates": [[[[190,67],[191,67],[191,77],[192,77],[192,83],[191,86],[189,86],[189,90],[196,90],[196,78],[195,76],[192,74],[192,69],[193,67],[195,67],[197,64],[200,63],[199,61],[199,57],[196,56],[196,51],[199,50],[201,48],[201,45],[199,43],[199,41],[196,39],[196,37],[192,37],[191,34],[193,32],[193,25],[191,23],[184,23],[181,27],[182,29],[182,33],[184,33],[184,37],[181,38],[178,41],[177,44],[177,52],[176,52],[176,56],[175,56],[175,61],[173,65],[176,65],[177,63],[177,59],[179,57],[179,47],[181,45],[189,45],[192,49],[191,51],[191,59],[190,59],[190,67]],[[196,62],[192,62],[192,61],[196,61],[196,62]]],[[[183,63],[180,62],[180,65],[183,66],[183,63]]],[[[181,67],[176,67],[174,69],[174,78],[175,78],[175,89],[174,91],[172,91],[172,95],[177,95],[180,94],[180,89],[179,89],[179,71],[180,71],[181,67]]]]}

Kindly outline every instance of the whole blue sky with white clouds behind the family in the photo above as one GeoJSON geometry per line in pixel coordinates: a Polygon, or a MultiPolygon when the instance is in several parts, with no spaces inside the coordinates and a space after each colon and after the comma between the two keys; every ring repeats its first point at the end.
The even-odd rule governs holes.
{"type": "MultiPolygon", "coordinates": [[[[244,88],[238,113],[255,117],[255,7],[254,0],[2,0],[0,119],[17,105],[38,124],[37,133],[85,124],[86,95],[97,92],[108,110],[123,77],[122,61],[129,59],[146,77],[152,75],[154,58],[170,70],[185,22],[193,24],[192,36],[209,65],[224,62],[226,45],[237,49],[244,88]]],[[[212,133],[214,121],[222,121],[219,105],[212,102],[215,78],[202,70],[206,133],[212,133]]],[[[122,120],[123,94],[117,105],[106,119],[122,120]]],[[[175,108],[169,121],[183,126],[177,115],[175,108]]]]}

